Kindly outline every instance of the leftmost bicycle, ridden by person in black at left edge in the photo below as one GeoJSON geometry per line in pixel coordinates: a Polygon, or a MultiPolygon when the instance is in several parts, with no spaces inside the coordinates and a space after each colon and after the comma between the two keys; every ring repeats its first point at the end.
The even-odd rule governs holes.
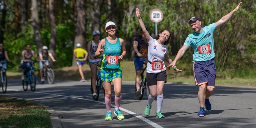
{"type": "Polygon", "coordinates": [[[4,63],[6,61],[0,61],[0,87],[3,90],[3,93],[6,93],[6,89],[7,89],[7,77],[6,77],[6,72],[4,69],[6,69],[6,67],[4,67],[4,63]]]}

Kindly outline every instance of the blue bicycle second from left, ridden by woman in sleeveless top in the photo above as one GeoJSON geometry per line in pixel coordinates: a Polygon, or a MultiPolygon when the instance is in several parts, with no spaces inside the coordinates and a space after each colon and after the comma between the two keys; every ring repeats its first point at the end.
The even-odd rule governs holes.
{"type": "Polygon", "coordinates": [[[29,62],[30,70],[25,74],[24,79],[22,80],[22,87],[24,91],[27,91],[28,84],[30,85],[31,91],[35,91],[36,80],[35,80],[35,74],[33,70],[34,63],[35,62],[33,61],[29,62]]]}

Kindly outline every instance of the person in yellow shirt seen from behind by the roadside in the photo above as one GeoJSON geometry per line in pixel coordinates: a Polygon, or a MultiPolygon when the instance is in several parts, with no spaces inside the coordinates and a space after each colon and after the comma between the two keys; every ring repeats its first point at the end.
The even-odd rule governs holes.
{"type": "Polygon", "coordinates": [[[85,82],[86,80],[84,79],[84,75],[83,75],[83,70],[82,70],[82,66],[84,64],[84,61],[86,61],[87,56],[88,56],[88,52],[86,50],[84,50],[83,48],[81,48],[81,44],[77,43],[76,44],[76,49],[74,49],[74,56],[76,57],[76,64],[81,76],[81,80],[80,82],[85,82]]]}

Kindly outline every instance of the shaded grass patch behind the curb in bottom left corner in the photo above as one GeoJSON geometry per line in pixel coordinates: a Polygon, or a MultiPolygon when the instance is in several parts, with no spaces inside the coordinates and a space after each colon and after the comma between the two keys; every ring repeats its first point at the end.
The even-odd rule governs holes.
{"type": "Polygon", "coordinates": [[[50,113],[31,101],[0,96],[0,128],[52,128],[50,113]]]}

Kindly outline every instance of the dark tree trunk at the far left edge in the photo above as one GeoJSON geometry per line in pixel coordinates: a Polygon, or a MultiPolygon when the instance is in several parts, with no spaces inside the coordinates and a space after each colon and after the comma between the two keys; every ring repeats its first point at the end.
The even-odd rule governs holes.
{"type": "Polygon", "coordinates": [[[5,16],[6,16],[6,0],[2,1],[2,19],[1,19],[1,26],[0,26],[0,44],[4,44],[4,29],[5,29],[5,16]]]}

